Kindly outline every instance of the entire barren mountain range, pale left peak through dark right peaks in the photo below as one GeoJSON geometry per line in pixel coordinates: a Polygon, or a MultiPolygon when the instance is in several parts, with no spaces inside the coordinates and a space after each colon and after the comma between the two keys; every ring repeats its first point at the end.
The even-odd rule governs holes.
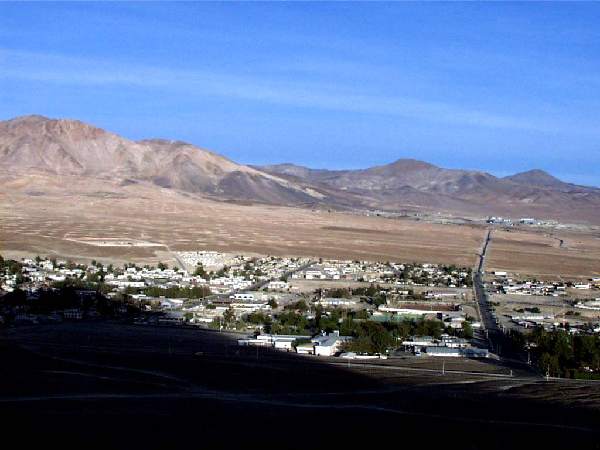
{"type": "Polygon", "coordinates": [[[116,180],[219,201],[600,223],[600,189],[541,170],[501,178],[413,159],[360,170],[248,166],[181,141],[132,141],[77,120],[42,116],[0,122],[0,164],[13,179],[116,180]]]}

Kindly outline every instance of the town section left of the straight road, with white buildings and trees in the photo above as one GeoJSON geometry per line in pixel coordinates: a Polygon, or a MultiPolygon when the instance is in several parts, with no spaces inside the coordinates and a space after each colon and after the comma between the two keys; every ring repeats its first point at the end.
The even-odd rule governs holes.
{"type": "Polygon", "coordinates": [[[181,267],[2,260],[0,322],[121,315],[137,325],[237,332],[239,345],[300,354],[488,356],[476,336],[470,268],[215,251],[176,260],[181,267]]]}

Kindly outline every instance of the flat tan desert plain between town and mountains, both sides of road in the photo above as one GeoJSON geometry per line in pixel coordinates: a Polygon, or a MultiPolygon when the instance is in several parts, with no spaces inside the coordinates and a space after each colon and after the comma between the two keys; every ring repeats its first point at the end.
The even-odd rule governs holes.
{"type": "MultiPolygon", "coordinates": [[[[223,202],[144,183],[29,174],[0,179],[0,253],[75,261],[175,262],[218,250],[474,266],[487,228],[323,208],[223,202]]],[[[600,274],[600,231],[496,229],[488,270],[600,274]]]]}

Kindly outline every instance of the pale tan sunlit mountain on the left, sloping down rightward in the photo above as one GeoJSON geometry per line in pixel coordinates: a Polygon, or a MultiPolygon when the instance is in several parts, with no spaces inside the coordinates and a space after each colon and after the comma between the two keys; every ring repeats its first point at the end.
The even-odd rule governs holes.
{"type": "Polygon", "coordinates": [[[147,181],[225,199],[297,204],[326,197],[184,142],[133,142],[79,121],[41,116],[0,122],[0,164],[13,172],[147,181]]]}

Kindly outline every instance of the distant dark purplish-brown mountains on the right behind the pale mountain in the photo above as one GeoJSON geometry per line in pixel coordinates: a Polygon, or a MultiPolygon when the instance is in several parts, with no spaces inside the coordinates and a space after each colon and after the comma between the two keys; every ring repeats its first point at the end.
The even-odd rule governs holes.
{"type": "Polygon", "coordinates": [[[600,189],[564,183],[539,170],[498,178],[412,159],[359,170],[315,170],[292,164],[257,168],[297,182],[369,195],[374,199],[371,203],[382,209],[419,207],[596,221],[593,209],[600,207],[600,189]]]}

